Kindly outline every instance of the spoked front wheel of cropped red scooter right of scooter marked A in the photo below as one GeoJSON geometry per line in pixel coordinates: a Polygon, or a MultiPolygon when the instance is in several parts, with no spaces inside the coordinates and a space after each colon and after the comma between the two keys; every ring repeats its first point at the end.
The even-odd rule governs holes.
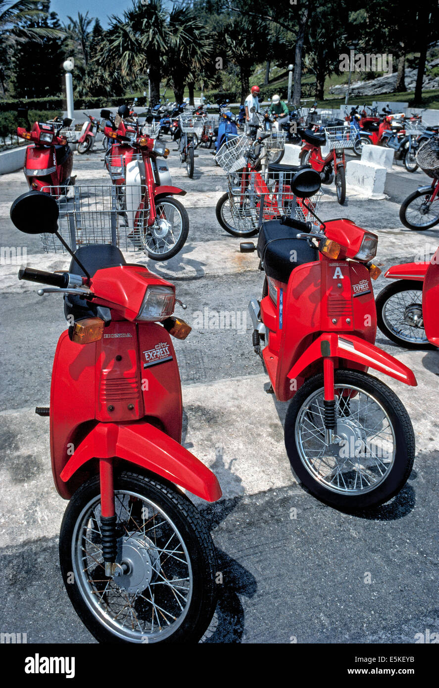
{"type": "Polygon", "coordinates": [[[406,349],[433,349],[425,335],[422,316],[422,282],[398,280],[376,299],[378,327],[386,337],[406,349]]]}

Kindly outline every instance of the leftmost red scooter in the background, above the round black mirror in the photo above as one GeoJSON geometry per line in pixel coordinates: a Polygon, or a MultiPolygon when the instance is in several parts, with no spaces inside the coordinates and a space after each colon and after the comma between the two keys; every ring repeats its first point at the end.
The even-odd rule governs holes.
{"type": "Polygon", "coordinates": [[[34,122],[31,127],[27,110],[19,109],[18,116],[27,121],[25,127],[17,127],[17,136],[30,141],[23,168],[29,188],[45,189],[45,193],[60,197],[76,180],[72,177],[72,149],[60,133],[63,127],[72,124],[72,120],[57,117],[50,122],[34,122]]]}

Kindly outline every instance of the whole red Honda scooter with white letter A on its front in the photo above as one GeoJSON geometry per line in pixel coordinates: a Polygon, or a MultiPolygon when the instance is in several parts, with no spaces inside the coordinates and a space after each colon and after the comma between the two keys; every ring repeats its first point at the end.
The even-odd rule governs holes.
{"type": "MultiPolygon", "coordinates": [[[[291,186],[308,198],[319,174],[299,171],[291,186]]],[[[312,494],[345,510],[387,502],[414,462],[407,411],[367,374],[371,367],[416,385],[407,366],[374,345],[371,277],[380,271],[370,261],[377,244],[348,219],[320,228],[288,217],[266,222],[257,245],[266,272],[262,299],[249,303],[253,347],[270,378],[266,391],[291,400],[285,444],[292,469],[312,494]]]]}

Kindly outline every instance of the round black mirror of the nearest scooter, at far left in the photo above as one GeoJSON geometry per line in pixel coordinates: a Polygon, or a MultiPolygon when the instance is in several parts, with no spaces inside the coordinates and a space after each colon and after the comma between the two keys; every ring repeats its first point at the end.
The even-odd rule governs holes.
{"type": "Polygon", "coordinates": [[[10,218],[25,234],[54,234],[58,231],[59,208],[53,196],[43,191],[28,191],[14,200],[10,218]]]}

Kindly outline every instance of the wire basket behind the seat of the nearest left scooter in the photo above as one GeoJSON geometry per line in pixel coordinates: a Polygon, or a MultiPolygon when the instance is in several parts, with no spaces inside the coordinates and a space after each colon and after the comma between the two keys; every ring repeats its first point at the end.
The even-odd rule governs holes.
{"type": "MultiPolygon", "coordinates": [[[[42,191],[52,193],[54,187],[42,191]]],[[[144,187],[140,185],[61,186],[58,198],[58,233],[72,250],[88,244],[112,244],[120,250],[134,252],[141,242],[136,240],[133,226],[146,226],[149,207],[144,208],[144,187]]],[[[41,234],[45,252],[64,252],[53,234],[41,234]]],[[[143,250],[143,249],[142,249],[143,250]]]]}

